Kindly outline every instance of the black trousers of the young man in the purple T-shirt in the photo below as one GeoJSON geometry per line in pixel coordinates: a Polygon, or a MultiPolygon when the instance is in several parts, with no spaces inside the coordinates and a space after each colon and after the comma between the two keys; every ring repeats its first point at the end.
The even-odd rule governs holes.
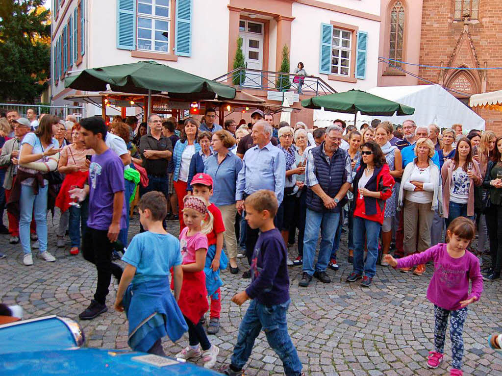
{"type": "Polygon", "coordinates": [[[105,304],[111,275],[117,281],[122,277],[122,268],[111,262],[112,243],[108,240],[108,230],[87,228],[82,239],[82,254],[85,260],[94,264],[97,271],[97,284],[94,300],[105,304]]]}

